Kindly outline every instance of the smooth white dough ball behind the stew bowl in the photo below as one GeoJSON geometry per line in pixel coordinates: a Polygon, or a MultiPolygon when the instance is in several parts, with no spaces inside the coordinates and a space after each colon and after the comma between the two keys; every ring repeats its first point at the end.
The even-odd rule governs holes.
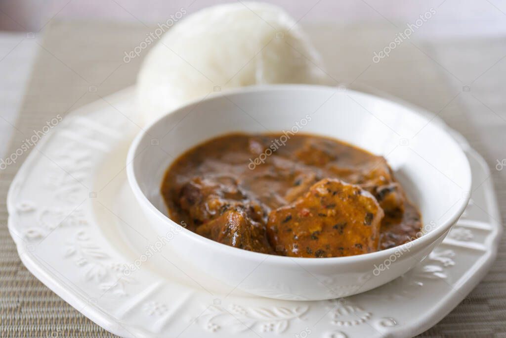
{"type": "Polygon", "coordinates": [[[203,9],[164,33],[144,60],[137,96],[144,122],[217,90],[323,84],[320,58],[281,8],[233,3],[203,9]]]}

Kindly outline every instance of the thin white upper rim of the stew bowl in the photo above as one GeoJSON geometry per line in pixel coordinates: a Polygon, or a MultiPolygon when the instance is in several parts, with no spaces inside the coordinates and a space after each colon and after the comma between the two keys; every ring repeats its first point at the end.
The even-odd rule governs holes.
{"type": "MultiPolygon", "coordinates": [[[[307,84],[275,84],[275,85],[256,85],[256,86],[248,86],[248,87],[240,87],[240,88],[233,88],[233,89],[227,89],[225,93],[227,96],[233,96],[233,95],[255,95],[260,92],[266,92],[266,91],[290,91],[290,90],[338,90],[338,87],[333,86],[325,86],[325,85],[307,85],[307,84]]],[[[391,104],[402,106],[404,109],[408,110],[410,114],[416,115],[420,119],[423,119],[427,121],[428,123],[431,122],[431,120],[427,119],[425,116],[420,115],[418,112],[414,110],[413,105],[404,105],[402,103],[393,101],[391,99],[379,97],[373,94],[355,91],[347,89],[347,92],[357,93],[359,95],[363,95],[366,97],[369,97],[371,99],[379,99],[388,101],[391,104]]],[[[182,227],[177,222],[173,221],[169,217],[165,216],[160,210],[158,210],[144,195],[144,193],[141,190],[141,187],[139,186],[139,183],[137,181],[136,172],[134,170],[134,161],[137,157],[137,153],[139,150],[139,144],[142,142],[142,140],[146,137],[146,135],[149,135],[149,131],[160,121],[165,119],[168,115],[177,114],[177,112],[180,112],[182,110],[188,109],[191,107],[191,109],[197,107],[198,105],[210,101],[215,100],[223,97],[223,92],[218,93],[211,93],[207,95],[204,98],[197,98],[194,100],[191,100],[187,102],[186,104],[179,106],[175,109],[172,109],[168,112],[166,112],[164,115],[160,116],[159,118],[155,119],[154,121],[147,124],[134,138],[132,141],[128,155],[126,156],[126,175],[129,181],[129,185],[131,186],[132,191],[134,192],[134,195],[137,199],[137,201],[140,203],[142,208],[147,208],[151,213],[153,213],[161,222],[164,222],[167,224],[167,226],[170,227],[180,227],[181,233],[185,234],[186,236],[189,236],[192,240],[198,242],[201,245],[204,246],[211,246],[212,250],[221,251],[224,254],[230,254],[233,256],[236,256],[238,258],[244,258],[244,259],[254,259],[258,260],[259,262],[263,262],[265,260],[269,260],[270,264],[277,264],[277,265],[283,265],[290,260],[292,262],[295,262],[298,265],[303,266],[327,266],[327,265],[334,265],[334,264],[350,264],[350,263],[358,263],[358,262],[366,262],[369,260],[376,260],[379,258],[385,258],[390,257],[392,254],[395,254],[398,251],[402,251],[406,253],[406,251],[409,252],[416,252],[420,249],[423,249],[423,247],[430,245],[431,243],[435,242],[439,237],[441,237],[460,217],[462,212],[465,210],[469,203],[469,199],[462,198],[459,203],[458,208],[456,209],[456,212],[454,212],[451,216],[449,216],[443,223],[440,224],[436,229],[401,245],[394,246],[392,248],[384,249],[384,250],[378,250],[374,252],[369,253],[363,253],[359,255],[352,255],[352,256],[342,256],[342,257],[291,257],[291,256],[280,256],[280,255],[273,255],[268,253],[261,253],[261,252],[255,252],[255,251],[248,251],[240,248],[236,248],[233,246],[229,246],[223,243],[219,243],[216,241],[213,241],[211,239],[205,238],[203,236],[200,236],[184,227],[182,227]],[[213,248],[214,247],[214,248],[213,248]]],[[[191,111],[190,109],[190,111],[191,111]]],[[[420,108],[421,109],[421,108],[420,108]]],[[[460,162],[462,164],[465,164],[465,166],[462,168],[462,170],[466,171],[466,186],[464,186],[462,189],[463,191],[471,191],[472,186],[472,177],[471,177],[471,166],[469,164],[469,161],[462,151],[462,148],[460,145],[458,145],[457,141],[451,137],[451,135],[443,128],[441,128],[438,125],[433,125],[434,128],[439,129],[443,134],[445,134],[448,137],[448,140],[450,142],[453,142],[454,145],[456,145],[458,151],[455,154],[456,157],[460,158],[460,162]]],[[[143,149],[144,150],[144,149],[143,149]]],[[[142,153],[142,151],[141,151],[142,153]]],[[[140,154],[140,153],[139,153],[140,154]]],[[[457,204],[456,203],[456,204],[457,204]]]]}

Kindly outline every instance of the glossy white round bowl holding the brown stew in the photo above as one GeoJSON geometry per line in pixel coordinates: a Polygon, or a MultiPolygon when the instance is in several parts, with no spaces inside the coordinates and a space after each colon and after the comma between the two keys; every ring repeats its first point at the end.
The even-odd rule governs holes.
{"type": "Polygon", "coordinates": [[[257,295],[299,300],[348,296],[404,274],[443,240],[465,209],[471,189],[466,156],[436,124],[383,98],[308,85],[250,87],[171,111],[134,140],[127,172],[151,226],[160,236],[180,230],[168,245],[204,272],[202,281],[210,275],[257,295]],[[302,126],[303,119],[311,121],[302,126]],[[159,192],[162,176],[187,149],[234,131],[281,131],[297,123],[304,133],[331,136],[385,156],[419,207],[427,233],[373,253],[291,258],[220,244],[167,217],[159,192]]]}

